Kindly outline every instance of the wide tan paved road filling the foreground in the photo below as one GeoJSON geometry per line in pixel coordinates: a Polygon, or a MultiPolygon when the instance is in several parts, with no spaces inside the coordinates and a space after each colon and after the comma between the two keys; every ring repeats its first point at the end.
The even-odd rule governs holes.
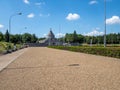
{"type": "Polygon", "coordinates": [[[0,90],[120,90],[120,59],[28,48],[0,72],[0,90]]]}

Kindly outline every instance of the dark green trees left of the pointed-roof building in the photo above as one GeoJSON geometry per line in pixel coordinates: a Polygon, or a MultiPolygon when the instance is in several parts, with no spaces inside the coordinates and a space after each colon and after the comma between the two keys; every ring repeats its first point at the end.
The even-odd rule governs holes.
{"type": "Polygon", "coordinates": [[[11,43],[36,43],[38,37],[35,34],[30,33],[9,35],[8,30],[6,30],[5,34],[0,32],[0,41],[9,42],[9,40],[11,43]]]}

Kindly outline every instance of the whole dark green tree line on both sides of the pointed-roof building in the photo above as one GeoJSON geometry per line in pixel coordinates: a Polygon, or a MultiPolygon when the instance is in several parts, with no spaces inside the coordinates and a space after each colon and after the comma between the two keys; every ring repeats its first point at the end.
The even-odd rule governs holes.
{"type": "MultiPolygon", "coordinates": [[[[8,30],[3,34],[0,32],[0,41],[12,42],[12,43],[36,43],[38,40],[42,40],[45,38],[38,38],[35,34],[24,33],[24,34],[10,34],[8,30]],[[9,39],[10,38],[10,39],[9,39]]],[[[59,39],[60,41],[66,43],[87,43],[90,44],[92,40],[92,44],[103,44],[104,36],[84,36],[82,34],[77,34],[74,30],[73,33],[66,33],[65,37],[59,39]]],[[[120,33],[110,33],[106,35],[106,43],[107,44],[120,44],[120,33]]]]}

